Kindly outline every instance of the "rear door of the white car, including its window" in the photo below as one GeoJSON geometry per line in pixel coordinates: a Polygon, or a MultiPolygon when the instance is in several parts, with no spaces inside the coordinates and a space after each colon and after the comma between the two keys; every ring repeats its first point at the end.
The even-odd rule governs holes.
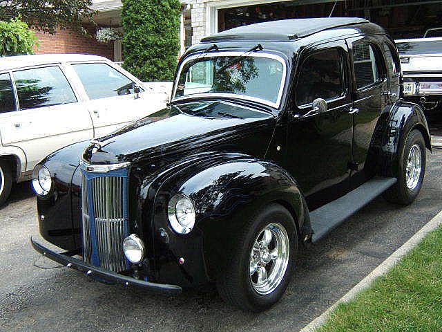
{"type": "Polygon", "coordinates": [[[19,147],[26,169],[61,147],[93,136],[88,111],[57,64],[12,71],[17,111],[0,113],[3,145],[19,147]]]}

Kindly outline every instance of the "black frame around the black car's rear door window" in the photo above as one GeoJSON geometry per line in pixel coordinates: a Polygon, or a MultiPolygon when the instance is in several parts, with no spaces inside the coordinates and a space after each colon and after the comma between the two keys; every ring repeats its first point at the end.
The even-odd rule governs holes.
{"type": "Polygon", "coordinates": [[[353,73],[352,75],[353,75],[353,80],[354,80],[355,91],[364,92],[364,91],[368,91],[370,89],[374,89],[387,80],[387,68],[386,68],[386,64],[385,64],[385,58],[383,55],[383,51],[378,46],[378,44],[376,42],[374,42],[372,39],[364,38],[364,39],[359,39],[359,40],[353,42],[352,48],[351,48],[351,53],[350,53],[350,61],[352,64],[352,73],[353,73]],[[372,84],[368,84],[368,85],[361,86],[360,88],[358,88],[358,82],[356,80],[356,69],[354,68],[353,49],[354,49],[354,46],[360,45],[360,44],[369,44],[369,46],[372,46],[372,50],[373,50],[373,54],[374,54],[374,61],[377,62],[376,67],[378,69],[378,80],[374,81],[372,84]]]}

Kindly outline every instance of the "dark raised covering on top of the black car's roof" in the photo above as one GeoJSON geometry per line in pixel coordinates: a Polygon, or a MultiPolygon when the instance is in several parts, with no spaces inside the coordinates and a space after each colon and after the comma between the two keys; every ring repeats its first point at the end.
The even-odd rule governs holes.
{"type": "Polygon", "coordinates": [[[367,24],[358,17],[319,17],[315,19],[282,19],[240,26],[201,39],[202,43],[232,40],[290,42],[323,30],[367,24]]]}

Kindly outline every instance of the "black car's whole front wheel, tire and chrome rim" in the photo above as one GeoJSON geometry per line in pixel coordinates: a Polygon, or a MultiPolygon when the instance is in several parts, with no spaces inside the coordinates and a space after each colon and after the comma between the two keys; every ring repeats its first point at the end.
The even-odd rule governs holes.
{"type": "Polygon", "coordinates": [[[238,234],[217,279],[229,304],[260,312],[278,302],[293,275],[298,234],[290,212],[272,204],[258,212],[238,234]]]}

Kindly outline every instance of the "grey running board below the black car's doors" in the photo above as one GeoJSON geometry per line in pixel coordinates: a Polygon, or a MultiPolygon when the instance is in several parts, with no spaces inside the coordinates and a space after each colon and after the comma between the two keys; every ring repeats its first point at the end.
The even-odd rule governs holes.
{"type": "Polygon", "coordinates": [[[311,242],[322,239],[345,219],[394,185],[396,181],[396,178],[376,176],[336,201],[311,211],[310,222],[314,230],[311,242]]]}

